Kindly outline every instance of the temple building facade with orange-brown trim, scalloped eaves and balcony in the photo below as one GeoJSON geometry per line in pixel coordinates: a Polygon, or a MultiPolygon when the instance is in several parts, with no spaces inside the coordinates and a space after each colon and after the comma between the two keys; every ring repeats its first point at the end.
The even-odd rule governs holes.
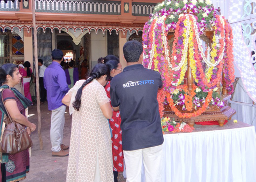
{"type": "MultiPolygon", "coordinates": [[[[142,42],[142,30],[161,0],[35,0],[38,59],[51,64],[51,51],[64,52],[91,69],[109,54],[123,59],[128,40],[142,42]]],[[[0,65],[30,61],[33,65],[32,0],[0,1],[0,65]]]]}

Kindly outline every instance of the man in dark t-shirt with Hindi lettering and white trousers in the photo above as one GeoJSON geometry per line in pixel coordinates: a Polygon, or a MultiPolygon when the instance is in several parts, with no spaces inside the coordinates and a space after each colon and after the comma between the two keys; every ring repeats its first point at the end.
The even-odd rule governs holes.
{"type": "Polygon", "coordinates": [[[146,182],[160,182],[163,136],[157,94],[161,76],[143,67],[138,41],[128,41],[123,51],[127,67],[112,79],[110,97],[113,109],[120,109],[127,182],[141,181],[142,161],[146,182]]]}

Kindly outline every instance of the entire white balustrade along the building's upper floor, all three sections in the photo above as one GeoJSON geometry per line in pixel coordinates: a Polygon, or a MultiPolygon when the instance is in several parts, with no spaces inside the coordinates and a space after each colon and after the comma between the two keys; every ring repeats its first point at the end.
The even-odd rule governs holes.
{"type": "MultiPolygon", "coordinates": [[[[132,15],[148,17],[157,3],[132,2],[132,15]]],[[[19,11],[19,1],[0,1],[0,11],[19,11]]],[[[35,0],[36,12],[121,15],[121,0],[35,0]]]]}

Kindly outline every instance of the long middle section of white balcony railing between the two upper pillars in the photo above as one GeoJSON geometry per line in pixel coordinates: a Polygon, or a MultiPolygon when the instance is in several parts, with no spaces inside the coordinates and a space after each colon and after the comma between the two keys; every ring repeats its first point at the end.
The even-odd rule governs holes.
{"type": "Polygon", "coordinates": [[[121,14],[121,1],[68,1],[68,0],[35,0],[37,12],[84,13],[84,14],[121,14]]]}

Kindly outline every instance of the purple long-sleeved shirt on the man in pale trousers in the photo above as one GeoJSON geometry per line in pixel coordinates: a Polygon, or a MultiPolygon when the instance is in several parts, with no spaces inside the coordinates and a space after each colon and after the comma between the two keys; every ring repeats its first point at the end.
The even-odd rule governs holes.
{"type": "Polygon", "coordinates": [[[52,62],[44,72],[44,88],[47,90],[48,109],[50,111],[64,105],[62,99],[67,93],[65,72],[58,62],[52,62]]]}

